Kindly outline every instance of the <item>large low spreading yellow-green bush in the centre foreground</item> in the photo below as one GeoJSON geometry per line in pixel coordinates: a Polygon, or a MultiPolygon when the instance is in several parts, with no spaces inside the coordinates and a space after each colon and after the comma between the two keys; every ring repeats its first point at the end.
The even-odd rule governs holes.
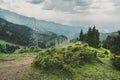
{"type": "Polygon", "coordinates": [[[63,75],[72,76],[73,68],[89,63],[96,58],[96,52],[86,47],[68,46],[67,48],[52,48],[40,52],[32,65],[42,71],[58,71],[63,75]]]}

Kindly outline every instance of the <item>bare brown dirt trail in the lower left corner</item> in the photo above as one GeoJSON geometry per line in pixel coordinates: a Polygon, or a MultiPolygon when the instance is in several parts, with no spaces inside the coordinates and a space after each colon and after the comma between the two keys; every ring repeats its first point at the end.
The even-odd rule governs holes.
{"type": "Polygon", "coordinates": [[[19,80],[20,72],[30,69],[33,56],[0,59],[0,80],[19,80]]]}

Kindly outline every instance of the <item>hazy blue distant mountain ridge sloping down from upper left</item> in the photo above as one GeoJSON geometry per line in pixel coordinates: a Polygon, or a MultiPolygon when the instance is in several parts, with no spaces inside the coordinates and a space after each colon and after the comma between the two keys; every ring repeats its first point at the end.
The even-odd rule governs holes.
{"type": "Polygon", "coordinates": [[[15,24],[26,25],[32,29],[34,29],[34,26],[36,25],[40,33],[50,31],[58,35],[77,37],[81,28],[84,31],[88,30],[87,28],[80,26],[69,26],[50,21],[38,20],[32,17],[26,17],[3,9],[0,9],[0,17],[15,24]]]}

